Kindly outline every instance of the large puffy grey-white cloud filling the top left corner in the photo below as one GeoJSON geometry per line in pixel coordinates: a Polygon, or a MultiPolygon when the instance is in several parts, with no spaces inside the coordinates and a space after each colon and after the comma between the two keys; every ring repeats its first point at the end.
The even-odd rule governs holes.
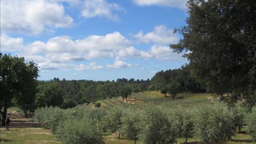
{"type": "Polygon", "coordinates": [[[53,0],[1,0],[0,9],[3,32],[38,35],[73,23],[71,16],[65,14],[64,6],[53,0]]]}

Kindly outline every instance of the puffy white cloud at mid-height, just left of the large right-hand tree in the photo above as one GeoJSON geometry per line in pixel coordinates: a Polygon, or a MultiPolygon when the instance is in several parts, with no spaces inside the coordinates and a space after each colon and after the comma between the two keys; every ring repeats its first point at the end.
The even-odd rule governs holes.
{"type": "Polygon", "coordinates": [[[170,44],[176,43],[180,39],[176,34],[173,34],[173,30],[167,29],[165,26],[156,26],[153,32],[143,34],[142,31],[138,34],[134,34],[135,38],[138,38],[139,42],[149,43],[154,42],[156,44],[170,44]]]}

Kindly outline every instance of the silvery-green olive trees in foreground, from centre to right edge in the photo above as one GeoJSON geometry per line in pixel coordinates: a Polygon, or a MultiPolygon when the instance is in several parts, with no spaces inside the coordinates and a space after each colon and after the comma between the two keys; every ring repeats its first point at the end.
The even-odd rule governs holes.
{"type": "Polygon", "coordinates": [[[176,138],[195,136],[208,144],[220,144],[231,139],[247,124],[252,141],[256,139],[256,108],[251,113],[240,106],[228,108],[226,104],[200,105],[192,109],[179,106],[176,109],[150,106],[145,109],[114,107],[102,118],[104,129],[119,132],[127,138],[142,140],[145,144],[169,144],[176,138]]]}

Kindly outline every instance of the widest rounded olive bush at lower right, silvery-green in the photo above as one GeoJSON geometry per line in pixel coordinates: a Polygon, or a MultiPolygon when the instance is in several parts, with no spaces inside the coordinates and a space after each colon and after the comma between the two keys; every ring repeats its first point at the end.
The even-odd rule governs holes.
{"type": "Polygon", "coordinates": [[[204,104],[194,111],[195,135],[207,144],[221,144],[234,136],[234,112],[226,104],[204,104]]]}

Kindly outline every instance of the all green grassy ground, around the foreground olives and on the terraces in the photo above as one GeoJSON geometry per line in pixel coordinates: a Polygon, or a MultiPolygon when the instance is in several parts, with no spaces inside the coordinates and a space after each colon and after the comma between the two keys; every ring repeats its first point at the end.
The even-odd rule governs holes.
{"type": "MultiPolygon", "coordinates": [[[[193,106],[198,103],[212,103],[214,100],[210,94],[179,94],[174,100],[168,96],[164,98],[163,94],[159,92],[138,92],[132,93],[128,98],[128,103],[123,102],[120,98],[112,98],[106,100],[100,100],[101,108],[109,110],[113,106],[120,105],[124,107],[144,107],[148,104],[163,104],[166,106],[177,106],[182,105],[186,107],[193,106]]],[[[94,109],[94,104],[80,104],[74,109],[94,109]]],[[[17,110],[16,108],[8,109],[8,111],[17,110]]],[[[41,128],[40,124],[36,122],[28,122],[27,119],[16,119],[12,120],[10,131],[6,131],[5,127],[0,129],[0,143],[1,144],[60,144],[55,140],[54,135],[51,134],[50,130],[41,128]]],[[[232,137],[232,140],[227,144],[256,144],[256,142],[250,142],[251,136],[246,134],[246,129],[242,129],[242,134],[236,134],[232,137]]],[[[104,136],[106,144],[134,144],[134,141],[127,140],[122,137],[118,139],[118,135],[107,135],[104,136]]],[[[185,141],[184,138],[177,138],[177,142],[182,144],[185,141]]],[[[196,144],[198,142],[195,138],[188,138],[188,144],[196,144]]],[[[141,141],[137,141],[137,144],[142,144],[141,141]]]]}

